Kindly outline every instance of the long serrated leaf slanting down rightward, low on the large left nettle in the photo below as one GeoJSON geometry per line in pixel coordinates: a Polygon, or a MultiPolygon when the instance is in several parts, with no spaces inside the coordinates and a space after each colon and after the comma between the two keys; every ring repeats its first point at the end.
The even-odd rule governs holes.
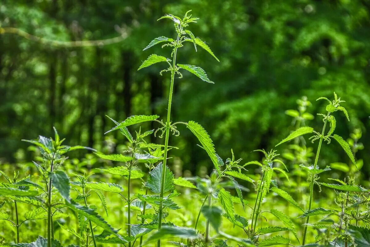
{"type": "Polygon", "coordinates": [[[113,227],[111,227],[111,225],[108,224],[107,221],[105,221],[100,215],[98,215],[98,213],[96,213],[94,209],[79,205],[74,201],[66,200],[65,203],[76,213],[85,216],[92,223],[95,223],[97,226],[100,226],[104,230],[109,231],[110,233],[114,234],[115,236],[123,240],[121,235],[118,234],[118,230],[114,230],[113,227]]]}

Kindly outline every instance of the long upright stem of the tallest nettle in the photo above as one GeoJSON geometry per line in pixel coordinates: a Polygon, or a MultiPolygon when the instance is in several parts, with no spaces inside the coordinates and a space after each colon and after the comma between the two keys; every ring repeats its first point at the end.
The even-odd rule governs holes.
{"type": "MultiPolygon", "coordinates": [[[[161,198],[161,202],[159,203],[159,219],[158,219],[158,229],[162,227],[162,203],[163,203],[163,190],[164,190],[164,180],[165,180],[165,173],[166,173],[166,164],[167,164],[167,153],[168,153],[168,138],[169,138],[169,130],[170,130],[170,118],[171,118],[171,103],[172,103],[172,92],[174,90],[174,81],[175,81],[175,66],[176,66],[176,54],[177,54],[177,45],[180,40],[182,28],[180,29],[179,33],[177,34],[177,40],[174,48],[174,61],[172,63],[172,70],[171,70],[171,84],[169,87],[169,96],[168,96],[168,107],[167,107],[167,120],[166,120],[166,137],[164,143],[164,154],[163,154],[163,166],[162,166],[162,180],[161,180],[161,192],[159,194],[161,198]]],[[[159,239],[157,242],[157,246],[161,247],[161,240],[159,239]]]]}

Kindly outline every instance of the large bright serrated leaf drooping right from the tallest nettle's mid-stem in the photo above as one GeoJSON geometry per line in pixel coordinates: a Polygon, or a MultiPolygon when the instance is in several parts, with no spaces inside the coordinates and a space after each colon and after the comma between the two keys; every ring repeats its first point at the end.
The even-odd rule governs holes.
{"type": "Polygon", "coordinates": [[[208,156],[211,158],[213,165],[215,166],[217,173],[221,175],[220,164],[218,161],[218,156],[215,151],[215,147],[212,143],[211,137],[209,137],[207,131],[198,123],[194,121],[189,121],[186,127],[198,138],[199,142],[202,144],[204,150],[206,150],[208,156]]]}

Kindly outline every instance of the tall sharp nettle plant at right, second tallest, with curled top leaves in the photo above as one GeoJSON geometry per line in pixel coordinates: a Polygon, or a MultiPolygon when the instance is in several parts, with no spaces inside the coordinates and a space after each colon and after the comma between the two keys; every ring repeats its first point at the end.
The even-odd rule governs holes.
{"type": "MultiPolygon", "coordinates": [[[[305,224],[305,230],[304,230],[303,239],[302,239],[302,244],[303,245],[306,242],[307,227],[308,227],[308,224],[309,224],[310,216],[316,215],[316,211],[320,210],[320,208],[319,209],[312,209],[313,187],[314,187],[315,184],[317,184],[318,186],[320,186],[320,184],[323,184],[323,183],[318,182],[318,180],[320,178],[318,176],[318,174],[323,173],[324,171],[329,171],[330,170],[329,166],[326,166],[325,168],[321,169],[317,165],[317,163],[319,161],[319,154],[320,154],[320,150],[321,150],[323,141],[326,141],[329,144],[332,139],[336,140],[339,143],[339,145],[343,148],[343,150],[346,152],[346,154],[348,155],[350,160],[353,162],[353,164],[356,165],[356,161],[354,159],[354,156],[353,156],[353,153],[351,151],[351,148],[350,148],[349,144],[345,140],[343,140],[342,137],[338,136],[337,134],[333,135],[334,130],[336,128],[336,119],[332,115],[332,113],[334,113],[336,111],[342,111],[344,113],[344,115],[346,116],[347,120],[349,121],[349,116],[348,116],[347,110],[343,106],[340,106],[340,104],[342,102],[345,102],[345,101],[340,100],[340,98],[337,97],[336,93],[334,93],[334,100],[333,101],[330,101],[329,99],[327,99],[325,97],[320,97],[317,100],[326,100],[326,101],[329,102],[329,104],[326,106],[326,112],[327,113],[326,114],[317,114],[317,115],[323,117],[324,125],[323,125],[321,133],[314,131],[314,129],[312,127],[300,127],[297,130],[293,131],[287,138],[285,138],[279,144],[276,145],[276,146],[278,146],[278,145],[280,145],[280,144],[282,144],[286,141],[293,140],[296,137],[302,136],[303,134],[309,134],[309,133],[314,133],[314,136],[309,138],[312,141],[312,143],[316,140],[319,140],[319,145],[317,147],[317,152],[316,152],[316,157],[315,157],[315,160],[314,160],[314,164],[312,166],[309,166],[309,167],[306,167],[306,166],[302,165],[302,168],[304,168],[308,172],[307,182],[309,182],[309,184],[310,184],[309,206],[308,206],[308,210],[307,210],[306,214],[304,214],[304,217],[306,217],[306,224],[305,224]],[[329,131],[326,132],[326,127],[327,127],[328,124],[330,125],[330,129],[329,129],[329,131]]],[[[323,184],[323,185],[326,186],[326,184],[323,184]]]]}

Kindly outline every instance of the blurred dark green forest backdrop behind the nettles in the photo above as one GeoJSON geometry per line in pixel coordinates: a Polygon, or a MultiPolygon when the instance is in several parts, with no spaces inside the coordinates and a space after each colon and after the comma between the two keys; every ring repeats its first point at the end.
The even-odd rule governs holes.
{"type": "MultiPolygon", "coordinates": [[[[156,20],[190,9],[200,18],[190,30],[220,62],[202,49],[195,52],[191,44],[181,49],[179,63],[202,67],[215,84],[184,73],[175,81],[173,120],[199,122],[223,159],[233,148],[236,158],[249,161],[260,159],[252,150],[273,148],[294,129],[285,110],[296,109],[302,96],[312,102],[307,111],[315,116],[306,124],[320,129],[316,113],[323,113],[326,104],[315,100],[332,99],[335,91],[350,116],[348,122],[334,114],[336,133],[347,139],[355,128],[362,130],[365,148],[356,158],[364,160],[362,171],[369,177],[368,0],[3,0],[0,27],[58,41],[121,34],[125,39],[106,46],[62,47],[1,34],[0,164],[28,160],[28,144],[20,140],[51,136],[53,126],[66,144],[111,153],[124,139],[118,132],[104,136],[114,125],[105,115],[117,121],[133,114],[165,118],[169,76],[158,73],[164,65],[137,68],[151,53],[169,56],[169,48],[160,45],[142,51],[155,37],[175,35],[171,21],[156,20]]],[[[170,140],[179,147],[170,163],[191,174],[209,172],[212,164],[195,137],[184,127],[179,130],[181,136],[170,140]]],[[[336,144],[323,148],[320,156],[321,164],[348,161],[336,144]]]]}

